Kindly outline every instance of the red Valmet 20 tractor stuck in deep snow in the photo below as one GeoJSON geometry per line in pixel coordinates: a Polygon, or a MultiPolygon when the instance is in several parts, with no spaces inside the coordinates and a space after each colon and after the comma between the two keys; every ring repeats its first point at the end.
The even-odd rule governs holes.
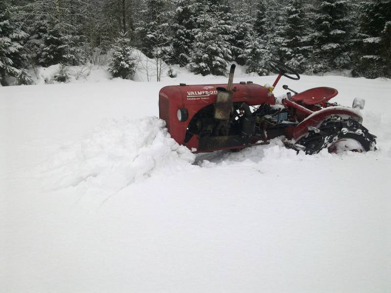
{"type": "Polygon", "coordinates": [[[328,101],[338,94],[330,87],[290,92],[277,103],[273,89],[282,76],[299,80],[296,70],[268,61],[279,75],[272,86],[252,82],[233,84],[235,65],[228,84],[165,86],[159,92],[159,116],[171,137],[192,152],[240,149],[284,137],[287,147],[308,154],[376,149],[375,136],[361,125],[359,108],[364,100],[345,107],[328,101]],[[292,94],[293,93],[293,94],[292,94]]]}

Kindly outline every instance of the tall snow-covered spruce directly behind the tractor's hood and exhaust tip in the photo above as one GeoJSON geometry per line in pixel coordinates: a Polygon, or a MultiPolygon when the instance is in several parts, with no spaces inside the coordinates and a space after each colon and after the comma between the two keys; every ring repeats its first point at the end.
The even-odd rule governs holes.
{"type": "Polygon", "coordinates": [[[189,64],[196,74],[225,75],[228,62],[231,60],[229,42],[224,38],[224,28],[221,27],[221,12],[208,12],[204,7],[198,18],[199,28],[195,29],[195,42],[189,64]]]}

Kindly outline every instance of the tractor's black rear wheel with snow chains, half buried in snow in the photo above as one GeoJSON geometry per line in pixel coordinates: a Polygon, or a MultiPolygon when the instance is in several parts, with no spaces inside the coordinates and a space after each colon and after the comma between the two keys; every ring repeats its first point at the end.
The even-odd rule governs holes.
{"type": "Polygon", "coordinates": [[[338,144],[343,147],[346,145],[345,150],[360,152],[376,149],[376,136],[370,134],[367,128],[351,118],[343,120],[339,116],[332,116],[317,129],[319,131],[309,131],[299,141],[305,147],[307,154],[318,153],[323,148],[328,148],[330,152],[337,152],[338,144]]]}

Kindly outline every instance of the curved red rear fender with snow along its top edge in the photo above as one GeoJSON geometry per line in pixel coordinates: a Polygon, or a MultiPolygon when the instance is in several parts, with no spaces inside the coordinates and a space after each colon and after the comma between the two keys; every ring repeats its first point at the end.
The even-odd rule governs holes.
{"type": "Polygon", "coordinates": [[[352,117],[359,123],[363,122],[363,117],[361,116],[360,111],[357,109],[344,106],[330,106],[312,113],[311,115],[306,117],[301,123],[299,123],[293,131],[293,139],[298,141],[304,135],[307,134],[309,126],[317,128],[321,126],[321,124],[325,120],[329,119],[333,115],[340,116],[343,119],[348,119],[352,117]]]}

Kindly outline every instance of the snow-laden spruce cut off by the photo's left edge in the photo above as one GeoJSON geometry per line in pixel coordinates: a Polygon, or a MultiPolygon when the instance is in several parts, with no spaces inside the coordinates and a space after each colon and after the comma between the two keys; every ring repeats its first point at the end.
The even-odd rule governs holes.
{"type": "Polygon", "coordinates": [[[0,1],[0,84],[7,85],[7,76],[21,74],[26,55],[23,52],[23,39],[27,34],[18,28],[13,16],[15,7],[0,1]]]}

